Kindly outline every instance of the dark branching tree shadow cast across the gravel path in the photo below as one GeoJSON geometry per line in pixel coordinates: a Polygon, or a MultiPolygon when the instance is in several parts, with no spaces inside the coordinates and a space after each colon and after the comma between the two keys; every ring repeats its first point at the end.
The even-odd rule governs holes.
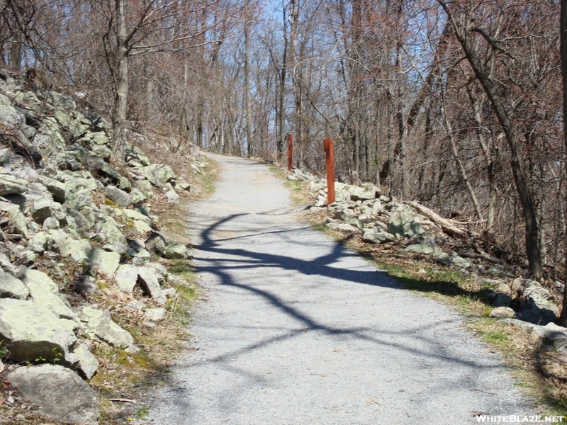
{"type": "MultiPolygon", "coordinates": [[[[283,212],[282,214],[288,214],[283,212]]],[[[254,214],[259,215],[274,215],[274,211],[254,214]]],[[[220,288],[235,288],[241,290],[248,295],[257,297],[264,303],[274,307],[274,310],[280,314],[293,320],[296,323],[294,329],[289,329],[283,334],[276,336],[269,336],[266,338],[258,339],[253,344],[237,348],[228,352],[224,352],[218,356],[210,357],[205,356],[198,361],[191,361],[190,365],[186,367],[198,367],[208,364],[215,364],[216,367],[222,368],[228,373],[240,375],[245,378],[252,385],[266,384],[266,378],[260,373],[254,373],[253,370],[245,370],[239,368],[233,363],[231,359],[250,353],[254,350],[259,350],[273,344],[279,344],[282,341],[287,341],[296,336],[305,334],[305,332],[315,332],[325,336],[332,336],[337,338],[355,339],[357,341],[364,341],[376,347],[376,351],[381,349],[393,349],[405,353],[406,356],[424,359],[427,363],[437,365],[439,364],[446,367],[449,364],[460,365],[471,371],[470,375],[475,376],[478,370],[486,370],[491,368],[503,368],[499,361],[494,359],[486,360],[484,358],[470,358],[468,356],[457,355],[452,348],[444,346],[443,342],[432,338],[430,335],[432,328],[443,328],[447,326],[457,326],[461,322],[460,317],[451,319],[439,320],[434,324],[425,326],[421,323],[416,323],[415,326],[396,329],[379,329],[379,335],[376,334],[377,329],[372,327],[339,327],[336,325],[328,324],[322,320],[316,319],[312,314],[301,310],[283,299],[283,297],[276,295],[276,291],[269,288],[258,287],[254,283],[247,282],[246,279],[236,280],[232,274],[236,271],[254,271],[257,268],[268,268],[273,270],[273,273],[299,273],[302,276],[318,276],[319,278],[332,278],[342,280],[349,284],[357,285],[371,285],[375,287],[387,288],[388,290],[402,289],[398,283],[386,275],[383,271],[377,271],[370,266],[365,268],[343,268],[340,266],[342,262],[348,259],[359,257],[352,251],[347,250],[342,244],[335,243],[332,249],[326,254],[320,255],[315,259],[301,259],[291,255],[285,255],[280,252],[273,254],[262,246],[254,246],[254,238],[257,237],[279,237],[287,242],[301,244],[298,242],[297,232],[312,231],[309,226],[293,227],[293,229],[282,228],[262,229],[262,225],[258,225],[254,229],[242,230],[235,222],[235,220],[245,218],[248,214],[233,214],[216,220],[212,224],[203,224],[201,222],[202,230],[200,232],[201,243],[194,244],[194,259],[196,260],[196,271],[198,273],[211,273],[218,279],[220,288]],[[231,228],[231,225],[233,227],[231,228]],[[223,227],[221,230],[220,227],[223,227]],[[225,237],[216,237],[216,234],[225,234],[225,237]],[[247,240],[248,239],[248,240],[247,240]],[[230,248],[228,242],[238,242],[237,247],[230,248]],[[258,249],[254,249],[258,248],[258,249]],[[412,342],[410,342],[412,341],[412,342]],[[417,343],[416,343],[417,341],[417,343]]],[[[325,242],[328,246],[328,242],[325,242]]],[[[471,295],[466,290],[459,288],[458,285],[447,283],[435,283],[430,285],[428,290],[435,290],[439,293],[453,293],[460,295],[471,295]]],[[[172,382],[175,386],[176,383],[172,382]]],[[[441,382],[438,384],[442,385],[441,382]]],[[[466,382],[451,382],[453,387],[461,387],[471,390],[476,385],[476,379],[471,378],[466,382]]],[[[478,383],[478,385],[482,385],[478,383]]],[[[430,390],[435,391],[436,384],[430,384],[430,390]]],[[[191,400],[189,395],[193,388],[177,387],[176,392],[179,395],[173,400],[174,403],[180,404],[182,409],[191,411],[191,400]]],[[[476,390],[476,389],[475,389],[476,390]]],[[[439,387],[439,391],[444,391],[439,387]]],[[[478,390],[477,390],[478,391],[478,390]]],[[[488,394],[488,393],[487,393],[488,394]]],[[[234,397],[234,395],[232,395],[234,397]]],[[[220,408],[220,407],[219,407],[220,408]]]]}

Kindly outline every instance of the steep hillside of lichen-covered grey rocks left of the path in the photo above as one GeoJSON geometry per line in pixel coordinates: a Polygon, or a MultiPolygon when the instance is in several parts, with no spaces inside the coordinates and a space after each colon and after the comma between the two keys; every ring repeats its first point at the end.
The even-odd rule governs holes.
{"type": "MultiPolygon", "coordinates": [[[[86,424],[99,418],[83,380],[99,367],[92,344],[140,349],[89,295],[112,285],[129,300],[116,308],[152,327],[184,283],[156,259],[191,254],[150,207],[179,202],[189,183],[134,145],[111,166],[108,125],[83,97],[26,91],[0,70],[0,369],[43,414],[86,424]]],[[[184,160],[198,171],[200,157],[184,160]]]]}

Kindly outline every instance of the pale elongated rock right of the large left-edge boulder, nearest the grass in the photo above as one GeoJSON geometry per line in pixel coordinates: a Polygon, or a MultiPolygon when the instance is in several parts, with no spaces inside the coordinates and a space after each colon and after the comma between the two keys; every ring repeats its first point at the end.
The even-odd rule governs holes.
{"type": "Polygon", "coordinates": [[[107,310],[99,310],[87,305],[82,308],[80,315],[87,329],[103,341],[119,348],[133,348],[133,351],[137,350],[130,332],[118,326],[107,310]]]}

